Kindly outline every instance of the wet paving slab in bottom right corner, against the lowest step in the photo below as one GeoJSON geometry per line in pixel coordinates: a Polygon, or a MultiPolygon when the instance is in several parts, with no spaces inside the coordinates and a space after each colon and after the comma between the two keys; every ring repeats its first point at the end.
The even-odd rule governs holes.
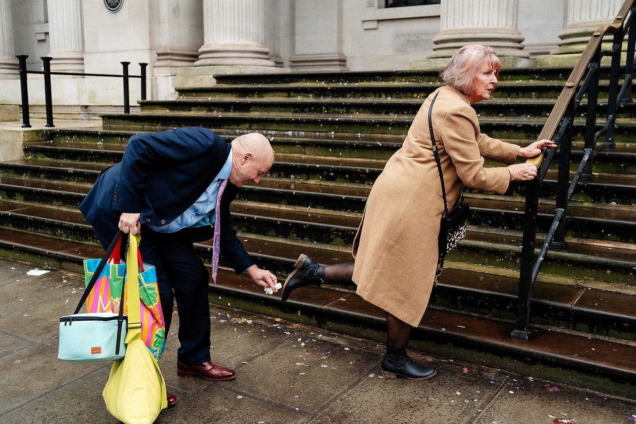
{"type": "Polygon", "coordinates": [[[636,404],[627,400],[548,381],[530,381],[528,378],[510,376],[473,422],[615,424],[633,423],[633,418],[636,418],[633,414],[636,414],[636,404]],[[629,420],[630,417],[632,420],[629,420]]]}

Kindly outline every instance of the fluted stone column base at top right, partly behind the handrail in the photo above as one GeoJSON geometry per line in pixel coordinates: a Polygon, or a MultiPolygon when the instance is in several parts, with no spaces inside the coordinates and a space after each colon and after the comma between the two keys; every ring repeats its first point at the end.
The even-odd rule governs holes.
{"type": "MultiPolygon", "coordinates": [[[[592,33],[599,25],[611,24],[622,5],[623,0],[570,0],[567,23],[558,34],[561,41],[550,55],[537,58],[537,66],[576,65],[592,33]]],[[[605,43],[604,50],[611,50],[612,35],[605,37],[605,43]]]]}

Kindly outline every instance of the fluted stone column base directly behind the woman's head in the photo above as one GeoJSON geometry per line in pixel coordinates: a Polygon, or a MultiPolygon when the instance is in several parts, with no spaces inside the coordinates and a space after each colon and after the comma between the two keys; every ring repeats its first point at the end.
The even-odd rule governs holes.
{"type": "Polygon", "coordinates": [[[411,60],[410,67],[445,67],[457,49],[471,43],[494,47],[502,67],[532,66],[530,53],[521,44],[524,38],[517,31],[517,15],[518,0],[444,0],[433,52],[425,59],[411,60]]]}

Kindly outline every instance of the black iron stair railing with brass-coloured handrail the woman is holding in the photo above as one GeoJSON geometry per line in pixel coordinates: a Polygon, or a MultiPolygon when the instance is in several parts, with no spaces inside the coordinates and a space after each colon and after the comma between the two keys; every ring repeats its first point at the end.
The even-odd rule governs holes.
{"type": "Polygon", "coordinates": [[[635,0],[626,0],[621,10],[610,25],[601,25],[593,33],[574,71],[563,87],[563,91],[556,100],[546,125],[541,130],[539,140],[553,139],[558,144],[559,161],[556,189],[555,217],[550,226],[539,255],[535,259],[537,209],[539,205],[539,188],[548,172],[548,167],[555,155],[556,149],[550,149],[536,158],[528,160],[534,163],[539,172],[537,177],[527,182],[525,195],[525,214],[523,222],[523,247],[521,270],[519,278],[519,306],[517,310],[516,328],[512,335],[527,339],[530,321],[530,301],[532,300],[532,286],[534,285],[541,264],[550,247],[564,249],[565,222],[567,220],[567,205],[572,198],[579,179],[593,179],[592,163],[594,148],[602,135],[605,135],[602,148],[614,149],[614,128],[616,113],[621,103],[631,102],[632,77],[634,69],[634,49],[636,46],[636,6],[635,0]],[[612,48],[602,50],[602,41],[606,34],[614,34],[612,48]],[[627,37],[625,74],[623,84],[619,89],[621,74],[621,51],[627,37]],[[600,62],[605,56],[611,57],[609,70],[609,92],[607,99],[607,120],[604,127],[597,130],[598,79],[600,76],[600,62]],[[583,78],[585,77],[585,78],[583,78]],[[581,80],[583,79],[583,82],[581,80]],[[570,175],[570,151],[572,146],[572,124],[581,100],[587,93],[585,143],[583,158],[574,175],[570,175]],[[554,138],[553,138],[554,137],[554,138]],[[571,180],[570,180],[571,177],[571,180]]]}

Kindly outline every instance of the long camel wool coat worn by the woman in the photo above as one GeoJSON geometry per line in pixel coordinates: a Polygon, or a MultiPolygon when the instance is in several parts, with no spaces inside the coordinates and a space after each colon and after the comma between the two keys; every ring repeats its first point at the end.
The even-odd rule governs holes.
{"type": "Polygon", "coordinates": [[[503,194],[509,170],[485,168],[484,159],[511,165],[520,148],[482,134],[468,95],[443,86],[424,101],[401,149],[373,184],[353,244],[353,281],[359,296],[413,327],[431,296],[444,212],[428,122],[436,93],[432,123],[449,210],[464,184],[503,194]]]}

